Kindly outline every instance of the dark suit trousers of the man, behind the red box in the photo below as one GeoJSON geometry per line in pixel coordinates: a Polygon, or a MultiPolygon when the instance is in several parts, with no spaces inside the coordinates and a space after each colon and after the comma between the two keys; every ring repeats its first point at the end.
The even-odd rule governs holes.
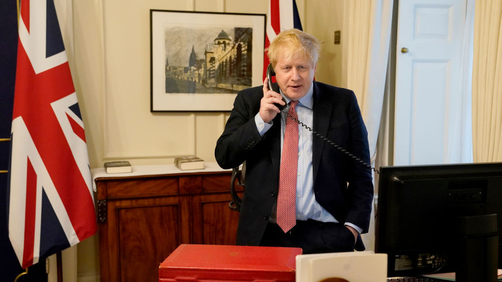
{"type": "MultiPolygon", "coordinates": [[[[364,249],[360,236],[356,245],[357,250],[364,249]]],[[[279,225],[268,223],[260,246],[299,247],[304,254],[346,252],[354,251],[354,235],[343,224],[334,222],[297,220],[296,225],[287,233],[279,225]]]]}

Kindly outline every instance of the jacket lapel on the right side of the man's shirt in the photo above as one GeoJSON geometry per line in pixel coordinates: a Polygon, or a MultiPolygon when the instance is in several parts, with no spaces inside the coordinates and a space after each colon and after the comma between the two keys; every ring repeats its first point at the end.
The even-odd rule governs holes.
{"type": "MultiPolygon", "coordinates": [[[[326,95],[326,93],[325,93],[326,95]]],[[[323,98],[319,86],[314,82],[314,120],[313,129],[319,134],[326,136],[328,134],[328,127],[331,121],[331,111],[333,110],[333,104],[328,100],[323,98]]],[[[321,160],[322,152],[324,150],[326,142],[315,136],[313,136],[312,143],[312,168],[314,184],[316,181],[317,172],[319,171],[319,162],[321,160]]],[[[314,185],[315,187],[315,185],[314,185]]]]}

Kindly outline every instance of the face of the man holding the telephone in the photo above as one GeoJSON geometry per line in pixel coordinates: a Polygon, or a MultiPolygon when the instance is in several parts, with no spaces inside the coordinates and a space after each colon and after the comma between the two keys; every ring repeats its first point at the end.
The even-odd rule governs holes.
{"type": "Polygon", "coordinates": [[[275,66],[277,84],[291,100],[298,100],[307,94],[312,82],[316,65],[305,56],[291,59],[281,57],[275,66]]]}

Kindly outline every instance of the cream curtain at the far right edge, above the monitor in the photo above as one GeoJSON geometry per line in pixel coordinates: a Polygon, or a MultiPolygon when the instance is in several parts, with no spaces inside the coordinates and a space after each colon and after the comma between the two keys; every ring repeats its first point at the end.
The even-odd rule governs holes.
{"type": "Polygon", "coordinates": [[[475,163],[502,161],[502,0],[476,0],[472,68],[475,163]]]}

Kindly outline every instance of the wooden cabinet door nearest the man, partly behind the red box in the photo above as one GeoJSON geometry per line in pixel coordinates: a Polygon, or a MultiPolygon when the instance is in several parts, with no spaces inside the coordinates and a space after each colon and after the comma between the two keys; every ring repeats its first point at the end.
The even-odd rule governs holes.
{"type": "Polygon", "coordinates": [[[230,200],[228,192],[193,196],[193,243],[235,245],[239,213],[228,208],[230,200]]]}

